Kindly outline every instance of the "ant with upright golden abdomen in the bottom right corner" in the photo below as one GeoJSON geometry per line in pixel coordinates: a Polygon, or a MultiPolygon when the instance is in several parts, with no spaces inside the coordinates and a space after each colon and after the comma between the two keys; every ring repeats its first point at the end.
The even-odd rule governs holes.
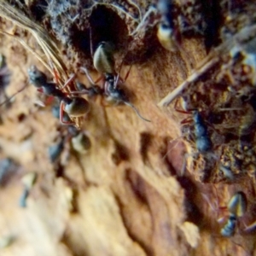
{"type": "Polygon", "coordinates": [[[241,218],[247,210],[246,195],[239,191],[233,195],[228,203],[229,218],[224,227],[220,230],[222,236],[230,237],[235,235],[238,218],[241,218]]]}

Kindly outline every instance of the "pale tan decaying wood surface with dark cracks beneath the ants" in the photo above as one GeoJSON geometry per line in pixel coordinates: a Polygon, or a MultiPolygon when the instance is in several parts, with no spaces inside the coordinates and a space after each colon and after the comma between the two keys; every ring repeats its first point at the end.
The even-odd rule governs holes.
{"type": "MultiPolygon", "coordinates": [[[[15,17],[6,19],[5,3],[0,3],[0,28],[5,32],[0,38],[0,54],[5,55],[11,71],[7,94],[12,96],[28,83],[27,69],[31,65],[44,70],[49,78],[52,78],[52,69],[47,62],[46,49],[41,48],[43,43],[38,44],[41,36],[35,32],[37,26],[27,29],[15,22],[15,17]],[[35,49],[50,70],[16,38],[35,49]]],[[[41,1],[26,1],[27,13],[32,15],[29,11],[39,3],[41,1]]],[[[91,67],[89,26],[92,27],[92,40],[99,43],[97,41],[102,38],[97,32],[98,25],[93,23],[96,20],[94,12],[117,15],[118,19],[114,19],[123,24],[120,25],[122,32],[113,28],[111,33],[117,35],[113,38],[118,45],[117,62],[125,58],[121,77],[125,77],[132,66],[125,89],[129,91],[132,104],[151,122],[139,119],[125,105],[105,106],[99,99],[90,100],[90,113],[84,117],[81,130],[90,137],[91,148],[87,154],[78,154],[67,143],[61,155],[60,170],[59,165],[50,162],[48,148],[65,128],[61,128],[49,107],[38,105],[44,97],[32,85],[27,85],[12,99],[10,106],[2,105],[0,159],[12,159],[15,167],[4,183],[0,169],[0,254],[256,255],[253,232],[244,234],[244,224],[239,224],[240,231],[231,238],[220,236],[224,224],[218,224],[218,218],[224,215],[222,208],[238,189],[248,197],[250,214],[245,222],[253,223],[254,179],[230,184],[201,183],[193,173],[193,166],[181,176],[184,154],[188,150],[193,153],[193,147],[183,141],[181,132],[180,121],[187,115],[177,113],[172,105],[166,108],[157,105],[170,92],[179,90],[179,84],[194,82],[193,73],[197,67],[197,73],[198,70],[208,71],[201,63],[208,58],[210,61],[203,63],[211,68],[218,60],[218,49],[207,54],[202,37],[184,37],[182,52],[168,52],[156,41],[154,27],[149,28],[146,35],[141,32],[132,37],[149,3],[125,3],[127,5],[122,1],[88,3],[89,7],[73,19],[67,30],[57,34],[51,28],[49,37],[62,44],[56,43],[61,49],[57,56],[49,52],[48,55],[54,64],[64,65],[55,65],[61,74],[61,85],[71,73],[79,73],[77,67],[82,66],[89,67],[93,79],[97,79],[99,75],[91,67]],[[124,7],[119,10],[117,6],[124,7]],[[130,7],[128,16],[124,12],[127,6],[130,7]],[[136,19],[137,12],[139,18],[136,19]],[[124,24],[128,26],[125,28],[127,34],[123,32],[124,24]],[[84,41],[81,39],[74,44],[71,40],[64,45],[63,41],[73,37],[73,33],[67,33],[72,29],[78,37],[84,35],[84,41]],[[81,42],[85,42],[86,47],[81,42]],[[56,61],[60,56],[63,59],[56,61]],[[20,196],[25,189],[22,177],[31,172],[37,173],[37,179],[29,190],[26,207],[20,207],[20,196]]],[[[19,4],[15,8],[19,9],[19,4]]],[[[68,8],[75,9],[72,4],[68,8]]],[[[52,27],[57,24],[58,14],[54,16],[53,9],[50,3],[51,15],[46,15],[44,22],[41,20],[45,27],[50,27],[50,21],[52,27]]],[[[72,11],[68,15],[71,14],[72,11]]],[[[68,15],[61,16],[63,26],[67,25],[68,15]]],[[[44,33],[41,28],[38,31],[44,33]]],[[[78,76],[79,80],[88,83],[83,74],[78,76]]]]}

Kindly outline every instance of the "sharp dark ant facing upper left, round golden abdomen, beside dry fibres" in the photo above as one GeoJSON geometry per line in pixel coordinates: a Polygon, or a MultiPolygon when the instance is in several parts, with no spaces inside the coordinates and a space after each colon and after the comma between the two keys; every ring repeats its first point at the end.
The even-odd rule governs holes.
{"type": "MultiPolygon", "coordinates": [[[[68,113],[70,117],[81,117],[90,110],[89,102],[83,97],[68,96],[69,93],[65,93],[56,87],[57,84],[48,82],[47,76],[42,71],[38,70],[37,67],[32,66],[28,70],[30,83],[38,88],[38,91],[43,92],[48,96],[55,96],[61,101],[60,107],[60,120],[63,125],[73,124],[70,121],[64,120],[64,111],[68,113]]],[[[67,83],[64,84],[63,88],[69,84],[73,78],[68,79],[67,83]]]]}

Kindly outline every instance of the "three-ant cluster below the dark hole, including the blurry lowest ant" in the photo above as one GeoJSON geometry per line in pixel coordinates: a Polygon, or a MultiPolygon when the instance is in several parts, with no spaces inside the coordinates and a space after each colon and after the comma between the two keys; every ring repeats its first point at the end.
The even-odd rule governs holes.
{"type": "MultiPolygon", "coordinates": [[[[73,149],[80,154],[84,154],[90,149],[90,138],[85,131],[79,131],[75,127],[75,123],[72,119],[84,117],[84,115],[90,111],[89,100],[91,98],[103,96],[111,102],[125,103],[125,105],[131,107],[137,113],[139,118],[149,122],[149,120],[144,119],[140,113],[138,113],[137,108],[128,101],[124,90],[119,88],[121,79],[119,78],[119,74],[114,70],[111,44],[108,44],[107,42],[99,44],[93,56],[93,63],[96,70],[102,74],[102,78],[100,79],[103,79],[103,86],[101,87],[100,85],[97,85],[90,77],[87,68],[81,67],[80,70],[85,74],[90,82],[90,86],[76,82],[74,83],[75,90],[69,92],[64,91],[64,89],[76,79],[75,74],[73,74],[72,77],[67,80],[66,84],[60,88],[57,74],[55,75],[55,82],[51,82],[46,74],[38,70],[37,67],[32,66],[28,70],[30,84],[33,84],[38,91],[44,93],[44,95],[55,98],[57,105],[54,106],[54,115],[59,118],[61,124],[64,125],[64,127],[60,128],[61,139],[59,138],[57,143],[49,147],[49,159],[53,163],[59,163],[58,160],[60,160],[65,144],[70,141],[73,149]],[[88,96],[88,100],[85,99],[83,95],[88,96]]],[[[129,72],[126,75],[126,78],[129,72]]]]}

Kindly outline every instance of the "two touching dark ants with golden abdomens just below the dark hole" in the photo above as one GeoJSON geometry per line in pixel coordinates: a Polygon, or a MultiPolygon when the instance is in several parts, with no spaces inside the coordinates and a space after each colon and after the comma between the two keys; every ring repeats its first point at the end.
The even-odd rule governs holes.
{"type": "MultiPolygon", "coordinates": [[[[99,44],[93,57],[93,63],[96,70],[103,76],[103,78],[101,78],[104,80],[103,89],[93,81],[90,77],[90,73],[85,67],[81,67],[81,71],[85,73],[89,80],[90,87],[88,88],[84,84],[76,83],[76,90],[68,93],[63,92],[63,89],[76,78],[75,74],[68,79],[67,83],[64,84],[61,89],[57,87],[58,84],[48,82],[46,75],[39,71],[37,67],[32,66],[28,71],[28,75],[30,83],[36,86],[38,91],[43,92],[48,96],[54,96],[60,101],[60,120],[64,125],[72,125],[71,121],[64,120],[64,112],[72,118],[84,116],[90,110],[90,103],[81,95],[87,95],[89,98],[104,96],[108,101],[125,103],[125,105],[133,108],[141,119],[149,121],[148,119],[144,119],[140,113],[138,113],[137,108],[127,100],[124,90],[119,88],[120,78],[119,74],[114,70],[111,44],[108,44],[107,42],[99,44]]],[[[128,74],[129,73],[127,73],[126,78],[128,74]]]]}

